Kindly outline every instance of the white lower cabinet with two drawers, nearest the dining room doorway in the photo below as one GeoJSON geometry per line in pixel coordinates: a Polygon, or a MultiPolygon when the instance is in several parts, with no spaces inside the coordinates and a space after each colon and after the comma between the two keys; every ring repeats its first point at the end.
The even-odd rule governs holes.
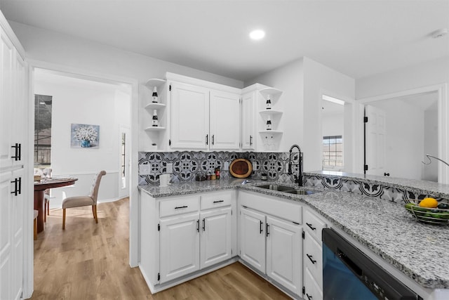
{"type": "Polygon", "coordinates": [[[158,199],[140,192],[139,266],[152,292],[236,255],[235,206],[235,191],[158,199]]]}

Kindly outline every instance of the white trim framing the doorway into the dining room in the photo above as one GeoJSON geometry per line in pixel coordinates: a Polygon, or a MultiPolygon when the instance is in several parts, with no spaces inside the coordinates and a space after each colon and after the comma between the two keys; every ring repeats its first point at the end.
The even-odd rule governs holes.
{"type": "MultiPolygon", "coordinates": [[[[138,79],[130,77],[121,77],[111,74],[104,74],[100,72],[94,72],[91,70],[83,70],[76,67],[69,67],[65,65],[58,65],[54,63],[43,62],[41,60],[28,60],[30,72],[33,74],[34,68],[41,68],[46,70],[54,70],[59,72],[65,72],[74,75],[81,75],[83,77],[91,77],[93,79],[103,79],[116,82],[122,82],[130,84],[131,86],[131,99],[130,99],[130,234],[129,234],[129,264],[131,267],[138,266],[138,136],[139,136],[139,124],[138,124],[138,99],[139,99],[139,81],[138,79]]],[[[32,89],[31,89],[32,91],[32,89]]],[[[34,103],[34,102],[33,102],[34,103]]],[[[34,106],[34,105],[33,105],[34,106]]]]}

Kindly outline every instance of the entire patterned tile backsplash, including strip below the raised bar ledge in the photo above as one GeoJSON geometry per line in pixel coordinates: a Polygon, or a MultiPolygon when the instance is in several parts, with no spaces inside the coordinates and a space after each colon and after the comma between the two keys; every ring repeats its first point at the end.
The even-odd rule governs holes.
{"type": "MultiPolygon", "coordinates": [[[[173,164],[173,182],[194,181],[196,174],[213,173],[220,167],[221,178],[232,177],[229,171],[223,170],[225,162],[231,163],[234,159],[245,158],[253,164],[253,174],[250,178],[260,179],[261,174],[267,174],[269,181],[280,183],[294,183],[298,164],[297,152],[292,154],[292,173],[288,174],[288,152],[139,152],[139,165],[150,164],[149,175],[139,174],[139,185],[159,184],[159,176],[167,173],[167,164],[173,164]]],[[[303,185],[319,188],[342,190],[368,197],[381,198],[392,202],[404,199],[423,199],[431,195],[415,194],[406,189],[391,188],[387,185],[369,184],[363,181],[347,180],[335,176],[316,176],[304,174],[303,185]]],[[[437,200],[441,200],[437,198],[437,200]]]]}

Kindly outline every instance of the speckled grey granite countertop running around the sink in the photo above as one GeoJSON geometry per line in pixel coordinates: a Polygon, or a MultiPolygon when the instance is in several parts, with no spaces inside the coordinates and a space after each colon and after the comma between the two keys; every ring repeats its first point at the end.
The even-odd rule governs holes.
{"type": "MultiPolygon", "coordinates": [[[[354,179],[352,176],[348,178],[354,179]]],[[[141,185],[139,188],[152,197],[168,197],[238,187],[302,202],[328,219],[331,226],[343,230],[422,287],[449,289],[449,226],[419,223],[401,204],[365,195],[340,190],[292,195],[255,186],[274,182],[250,180],[250,183],[245,185],[242,185],[242,182],[243,179],[234,178],[173,183],[166,188],[154,185],[141,185]]],[[[400,184],[399,181],[397,184],[400,184]]],[[[442,186],[442,190],[446,188],[447,185],[442,186]]]]}

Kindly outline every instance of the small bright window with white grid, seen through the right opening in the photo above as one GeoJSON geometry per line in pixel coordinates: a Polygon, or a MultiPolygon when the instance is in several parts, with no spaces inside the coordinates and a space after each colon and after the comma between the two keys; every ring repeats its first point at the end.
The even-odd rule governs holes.
{"type": "Polygon", "coordinates": [[[342,136],[323,136],[323,170],[340,170],[343,167],[342,136]]]}

